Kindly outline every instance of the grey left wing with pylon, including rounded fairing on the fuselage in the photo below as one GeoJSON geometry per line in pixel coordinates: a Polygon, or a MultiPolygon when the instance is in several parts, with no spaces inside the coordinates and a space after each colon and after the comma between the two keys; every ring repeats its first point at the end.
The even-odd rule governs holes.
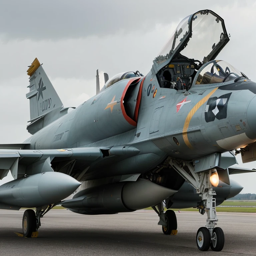
{"type": "Polygon", "coordinates": [[[20,144],[15,145],[8,145],[8,149],[2,149],[6,145],[0,145],[0,179],[4,178],[10,170],[14,179],[25,175],[57,171],[80,180],[91,165],[105,161],[109,157],[117,160],[140,152],[127,145],[44,150],[16,149],[20,144]]]}

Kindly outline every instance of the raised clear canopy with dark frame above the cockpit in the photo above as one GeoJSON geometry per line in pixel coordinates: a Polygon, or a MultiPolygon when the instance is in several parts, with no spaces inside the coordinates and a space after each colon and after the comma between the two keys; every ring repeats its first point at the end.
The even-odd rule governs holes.
{"type": "Polygon", "coordinates": [[[202,66],[214,60],[228,41],[224,20],[210,10],[199,11],[179,23],[153,62],[159,71],[181,54],[202,66]]]}

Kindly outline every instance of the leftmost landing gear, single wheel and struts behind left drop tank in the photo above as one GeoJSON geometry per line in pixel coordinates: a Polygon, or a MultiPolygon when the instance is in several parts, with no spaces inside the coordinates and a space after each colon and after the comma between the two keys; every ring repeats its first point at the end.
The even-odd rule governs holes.
{"type": "Polygon", "coordinates": [[[23,214],[22,231],[24,237],[37,237],[38,229],[41,226],[40,219],[55,205],[37,207],[36,212],[28,209],[23,214]],[[46,210],[47,209],[47,210],[46,210]]]}

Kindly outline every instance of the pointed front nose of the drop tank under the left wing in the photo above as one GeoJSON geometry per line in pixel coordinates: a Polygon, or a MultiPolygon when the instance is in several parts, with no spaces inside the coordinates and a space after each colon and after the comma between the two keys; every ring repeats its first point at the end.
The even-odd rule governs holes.
{"type": "Polygon", "coordinates": [[[71,195],[80,182],[71,176],[60,172],[45,172],[38,183],[38,192],[47,202],[57,203],[71,195]]]}

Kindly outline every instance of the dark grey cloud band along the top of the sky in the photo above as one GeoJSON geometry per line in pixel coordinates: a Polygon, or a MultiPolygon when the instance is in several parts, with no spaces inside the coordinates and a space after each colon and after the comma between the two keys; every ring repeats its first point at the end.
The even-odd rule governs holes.
{"type": "Polygon", "coordinates": [[[6,40],[84,38],[120,32],[150,30],[205,8],[230,5],[228,1],[130,0],[10,0],[1,4],[0,31],[6,40]]]}

